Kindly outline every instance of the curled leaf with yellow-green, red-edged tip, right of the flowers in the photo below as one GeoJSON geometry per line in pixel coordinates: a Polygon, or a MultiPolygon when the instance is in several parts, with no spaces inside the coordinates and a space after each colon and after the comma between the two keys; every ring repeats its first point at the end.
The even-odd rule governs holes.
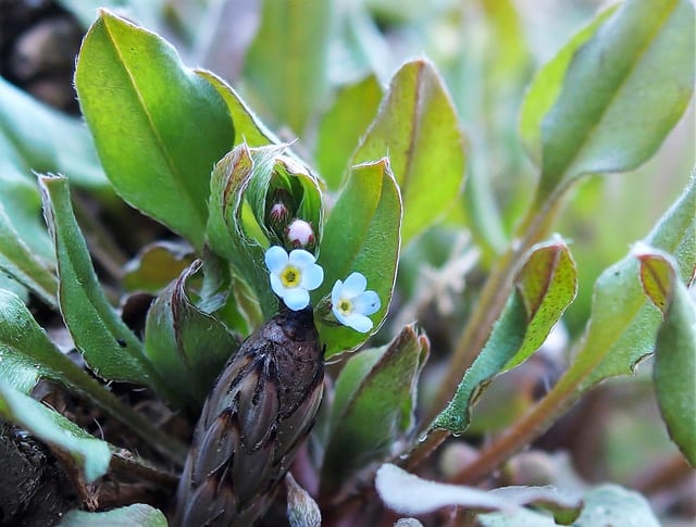
{"type": "Polygon", "coordinates": [[[566,243],[554,240],[532,248],[515,274],[514,286],[488,342],[432,429],[465,431],[471,406],[488,384],[524,362],[544,343],[577,291],[575,263],[566,243]]]}

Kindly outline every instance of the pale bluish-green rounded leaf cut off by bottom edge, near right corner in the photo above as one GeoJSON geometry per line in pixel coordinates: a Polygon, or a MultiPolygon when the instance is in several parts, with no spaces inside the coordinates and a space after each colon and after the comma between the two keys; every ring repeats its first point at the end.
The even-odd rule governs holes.
{"type": "Polygon", "coordinates": [[[601,485],[585,493],[583,501],[585,502],[583,510],[573,526],[660,526],[660,522],[658,522],[645,498],[618,485],[601,485]]]}

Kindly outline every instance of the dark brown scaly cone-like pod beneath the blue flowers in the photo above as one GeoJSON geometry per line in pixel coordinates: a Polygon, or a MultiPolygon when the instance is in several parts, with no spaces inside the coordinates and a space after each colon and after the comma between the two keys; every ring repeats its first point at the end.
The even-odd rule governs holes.
{"type": "Polygon", "coordinates": [[[311,308],[245,340],[208,397],[177,492],[181,527],[247,526],[270,505],[307,437],[324,362],[311,308]]]}

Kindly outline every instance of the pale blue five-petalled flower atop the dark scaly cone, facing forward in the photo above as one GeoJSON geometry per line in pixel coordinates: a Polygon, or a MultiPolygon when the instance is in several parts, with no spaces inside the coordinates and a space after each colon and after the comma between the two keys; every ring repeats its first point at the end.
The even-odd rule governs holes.
{"type": "Polygon", "coordinates": [[[307,308],[308,291],[316,289],[324,280],[324,269],[314,262],[314,255],[302,249],[295,249],[288,254],[282,247],[273,246],[265,251],[271,289],[293,311],[307,308]]]}

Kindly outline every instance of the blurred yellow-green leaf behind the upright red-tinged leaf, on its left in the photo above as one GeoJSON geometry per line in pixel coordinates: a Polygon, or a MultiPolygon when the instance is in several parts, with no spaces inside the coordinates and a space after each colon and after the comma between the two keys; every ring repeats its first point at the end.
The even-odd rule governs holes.
{"type": "Polygon", "coordinates": [[[374,120],[382,100],[382,86],[374,75],[344,87],[319,124],[314,158],[326,186],[338,190],[348,162],[374,120]]]}

